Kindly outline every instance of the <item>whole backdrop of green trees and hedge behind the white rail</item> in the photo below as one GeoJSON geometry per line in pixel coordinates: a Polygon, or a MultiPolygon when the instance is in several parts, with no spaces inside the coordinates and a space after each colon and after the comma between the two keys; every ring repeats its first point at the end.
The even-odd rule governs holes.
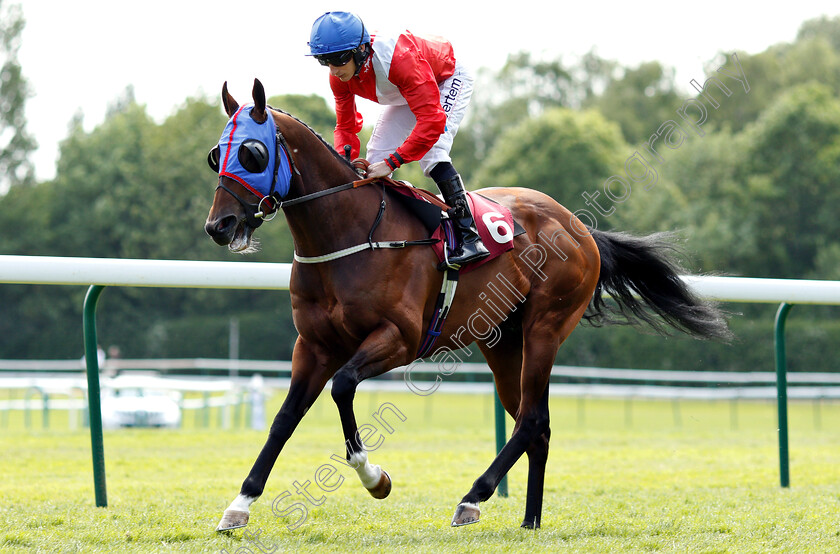
{"type": "MultiPolygon", "coordinates": [[[[83,129],[81,115],[71,124],[56,177],[35,182],[26,161],[34,143],[25,121],[9,119],[21,113],[27,95],[25,68],[15,57],[23,21],[14,9],[5,12],[0,96],[9,109],[2,110],[0,131],[13,129],[19,138],[0,145],[0,190],[6,191],[0,196],[0,253],[291,261],[282,218],[260,228],[262,250],[247,258],[204,234],[215,184],[205,157],[225,123],[216,99],[187,98],[157,122],[127,88],[93,130],[83,129]]],[[[697,80],[731,63],[730,55],[710,60],[709,75],[697,80]]],[[[654,167],[656,185],[634,189],[599,225],[637,234],[675,231],[693,272],[838,279],[840,19],[808,21],[792,43],[737,55],[749,92],[731,87],[732,94],[709,111],[704,136],[666,152],[654,167]]],[[[679,85],[673,70],[657,61],[622,67],[590,53],[568,64],[523,52],[500,70],[480,72],[453,159],[470,188],[533,187],[580,209],[582,192],[600,190],[607,177],[620,175],[650,135],[696,96],[687,83],[679,85]]],[[[269,102],[332,136],[335,118],[323,98],[286,95],[269,102]]],[[[413,166],[398,177],[433,187],[413,166]]],[[[81,356],[83,294],[73,287],[0,287],[0,358],[81,356]]],[[[727,308],[738,313],[733,346],[640,336],[633,329],[581,329],[558,362],[769,368],[765,346],[772,341],[774,308],[727,308]]],[[[290,359],[296,336],[285,293],[115,288],[103,296],[99,313],[103,346],[118,346],[131,358],[227,357],[232,318],[240,325],[242,357],[290,359]]],[[[837,369],[831,355],[840,342],[836,315],[832,308],[792,312],[792,370],[837,369]]]]}

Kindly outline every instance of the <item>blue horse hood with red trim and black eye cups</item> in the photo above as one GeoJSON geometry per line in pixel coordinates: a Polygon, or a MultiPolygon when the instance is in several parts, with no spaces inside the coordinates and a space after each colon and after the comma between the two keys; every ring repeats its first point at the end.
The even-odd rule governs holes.
{"type": "Polygon", "coordinates": [[[271,114],[264,122],[257,123],[251,117],[253,109],[253,104],[242,106],[228,120],[219,138],[219,176],[230,177],[260,199],[270,196],[272,192],[285,198],[292,180],[289,154],[278,145],[277,126],[271,114]],[[246,140],[258,140],[266,147],[269,159],[260,173],[248,171],[239,159],[240,148],[246,140]]]}

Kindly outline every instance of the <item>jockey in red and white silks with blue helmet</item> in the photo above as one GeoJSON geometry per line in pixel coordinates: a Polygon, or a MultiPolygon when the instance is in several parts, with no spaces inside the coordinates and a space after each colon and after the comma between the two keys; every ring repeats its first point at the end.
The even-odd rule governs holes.
{"type": "Polygon", "coordinates": [[[455,60],[452,45],[406,31],[398,37],[371,36],[348,12],[327,12],[312,25],[311,56],[330,68],[335,95],[335,147],[359,155],[362,116],[356,96],[385,105],[367,144],[367,177],[385,177],[419,161],[453,209],[459,248],[449,257],[463,266],[489,254],[470,212],[464,183],[452,166],[452,140],[472,95],[473,78],[455,60]]]}

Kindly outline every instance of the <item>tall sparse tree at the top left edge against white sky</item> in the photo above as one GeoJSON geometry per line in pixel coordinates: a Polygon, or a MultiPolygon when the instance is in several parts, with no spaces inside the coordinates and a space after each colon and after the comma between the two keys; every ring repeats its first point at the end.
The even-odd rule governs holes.
{"type": "Polygon", "coordinates": [[[24,114],[29,88],[17,58],[24,24],[20,6],[0,0],[0,193],[34,178],[29,154],[36,144],[24,114]]]}

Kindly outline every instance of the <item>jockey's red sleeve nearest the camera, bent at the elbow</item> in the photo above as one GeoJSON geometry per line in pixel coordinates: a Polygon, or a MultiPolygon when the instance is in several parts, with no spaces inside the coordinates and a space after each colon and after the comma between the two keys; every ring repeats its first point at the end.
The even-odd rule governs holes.
{"type": "Polygon", "coordinates": [[[446,113],[431,65],[411,38],[397,40],[388,80],[394,83],[417,119],[396,154],[402,163],[417,161],[431,150],[446,129],[446,113]]]}

